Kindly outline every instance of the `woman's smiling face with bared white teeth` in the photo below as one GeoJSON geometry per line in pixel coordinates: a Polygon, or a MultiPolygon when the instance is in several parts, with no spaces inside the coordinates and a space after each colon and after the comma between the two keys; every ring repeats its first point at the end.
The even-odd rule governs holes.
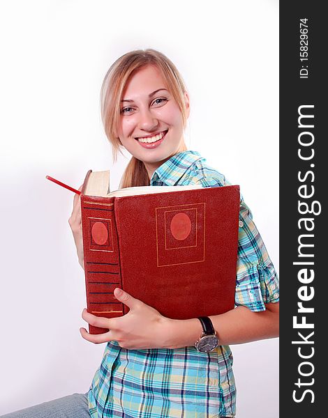
{"type": "MultiPolygon", "coordinates": [[[[187,116],[188,93],[185,93],[187,116]]],[[[137,70],[121,100],[119,139],[151,177],[163,162],[186,149],[181,110],[154,65],[137,70]]]]}

